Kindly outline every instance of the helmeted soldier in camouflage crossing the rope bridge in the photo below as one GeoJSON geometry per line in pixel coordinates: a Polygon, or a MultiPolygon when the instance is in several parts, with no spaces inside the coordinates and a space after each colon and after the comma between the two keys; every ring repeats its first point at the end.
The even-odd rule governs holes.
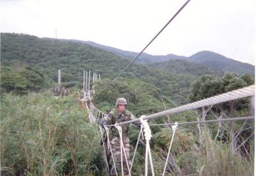
{"type": "MultiPolygon", "coordinates": [[[[101,125],[104,127],[105,125],[111,125],[111,124],[120,124],[125,121],[129,120],[134,120],[136,119],[134,115],[130,111],[126,109],[127,106],[127,101],[124,98],[119,98],[116,100],[116,108],[113,109],[109,112],[109,114],[102,118],[101,125]]],[[[135,125],[140,126],[141,122],[134,122],[135,125]]],[[[125,148],[125,155],[127,157],[128,163],[125,161],[125,157],[123,159],[123,166],[124,166],[124,174],[128,175],[129,170],[127,167],[127,164],[129,164],[129,168],[131,167],[131,160],[130,160],[130,145],[129,145],[129,137],[128,137],[128,131],[129,131],[129,124],[122,125],[122,140],[124,143],[124,148],[125,148]]],[[[111,127],[109,129],[109,141],[111,144],[112,152],[113,152],[113,157],[116,165],[116,170],[121,175],[122,170],[121,170],[121,150],[120,150],[120,138],[119,138],[119,133],[116,129],[116,127],[111,127]]],[[[110,149],[108,150],[107,147],[107,141],[105,141],[104,145],[106,146],[106,155],[108,159],[108,164],[109,164],[109,174],[111,175],[118,175],[118,173],[115,173],[115,168],[113,164],[113,158],[111,157],[111,151],[110,149]]],[[[124,156],[124,152],[123,152],[124,156]]]]}

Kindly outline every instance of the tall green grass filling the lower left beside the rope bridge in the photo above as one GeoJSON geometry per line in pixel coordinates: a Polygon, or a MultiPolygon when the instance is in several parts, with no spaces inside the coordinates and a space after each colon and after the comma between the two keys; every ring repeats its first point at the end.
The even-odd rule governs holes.
{"type": "Polygon", "coordinates": [[[96,128],[77,94],[51,92],[1,100],[1,175],[102,175],[96,128]]]}

